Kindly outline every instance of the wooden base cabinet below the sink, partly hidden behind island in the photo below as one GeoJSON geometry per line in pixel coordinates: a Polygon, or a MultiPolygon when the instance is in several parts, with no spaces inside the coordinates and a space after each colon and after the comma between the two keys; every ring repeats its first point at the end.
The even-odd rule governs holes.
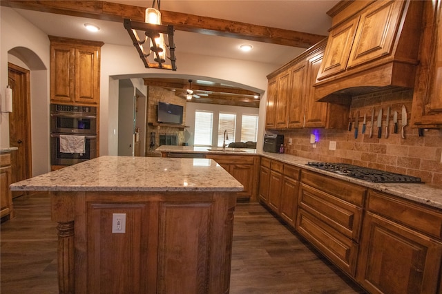
{"type": "Polygon", "coordinates": [[[257,201],[260,156],[206,154],[206,158],[215,160],[244,186],[237,193],[238,202],[257,201]]]}

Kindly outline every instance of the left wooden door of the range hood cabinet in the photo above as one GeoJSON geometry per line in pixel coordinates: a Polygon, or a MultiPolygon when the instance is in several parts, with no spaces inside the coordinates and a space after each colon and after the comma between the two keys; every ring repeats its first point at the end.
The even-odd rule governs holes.
{"type": "Polygon", "coordinates": [[[318,71],[318,81],[345,71],[358,21],[359,18],[355,17],[330,32],[325,54],[327,57],[318,71]]]}

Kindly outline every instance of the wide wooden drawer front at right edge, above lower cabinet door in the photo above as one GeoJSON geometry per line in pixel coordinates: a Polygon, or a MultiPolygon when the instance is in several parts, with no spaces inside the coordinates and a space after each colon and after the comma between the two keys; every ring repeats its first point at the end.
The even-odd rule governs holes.
{"type": "Polygon", "coordinates": [[[442,212],[371,190],[367,210],[442,240],[442,212]]]}

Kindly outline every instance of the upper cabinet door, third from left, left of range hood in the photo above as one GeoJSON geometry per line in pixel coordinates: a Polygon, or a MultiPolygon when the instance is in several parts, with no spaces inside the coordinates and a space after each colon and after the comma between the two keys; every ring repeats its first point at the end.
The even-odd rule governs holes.
{"type": "Polygon", "coordinates": [[[307,62],[303,61],[291,69],[291,95],[288,103],[288,127],[304,126],[305,93],[307,91],[307,62]]]}

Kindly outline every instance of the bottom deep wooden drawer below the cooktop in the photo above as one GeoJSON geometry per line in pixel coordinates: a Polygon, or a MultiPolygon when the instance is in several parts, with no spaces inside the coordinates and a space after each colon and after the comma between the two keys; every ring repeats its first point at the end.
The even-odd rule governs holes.
{"type": "Polygon", "coordinates": [[[304,209],[299,209],[296,229],[329,260],[354,277],[358,244],[318,220],[304,209]]]}

